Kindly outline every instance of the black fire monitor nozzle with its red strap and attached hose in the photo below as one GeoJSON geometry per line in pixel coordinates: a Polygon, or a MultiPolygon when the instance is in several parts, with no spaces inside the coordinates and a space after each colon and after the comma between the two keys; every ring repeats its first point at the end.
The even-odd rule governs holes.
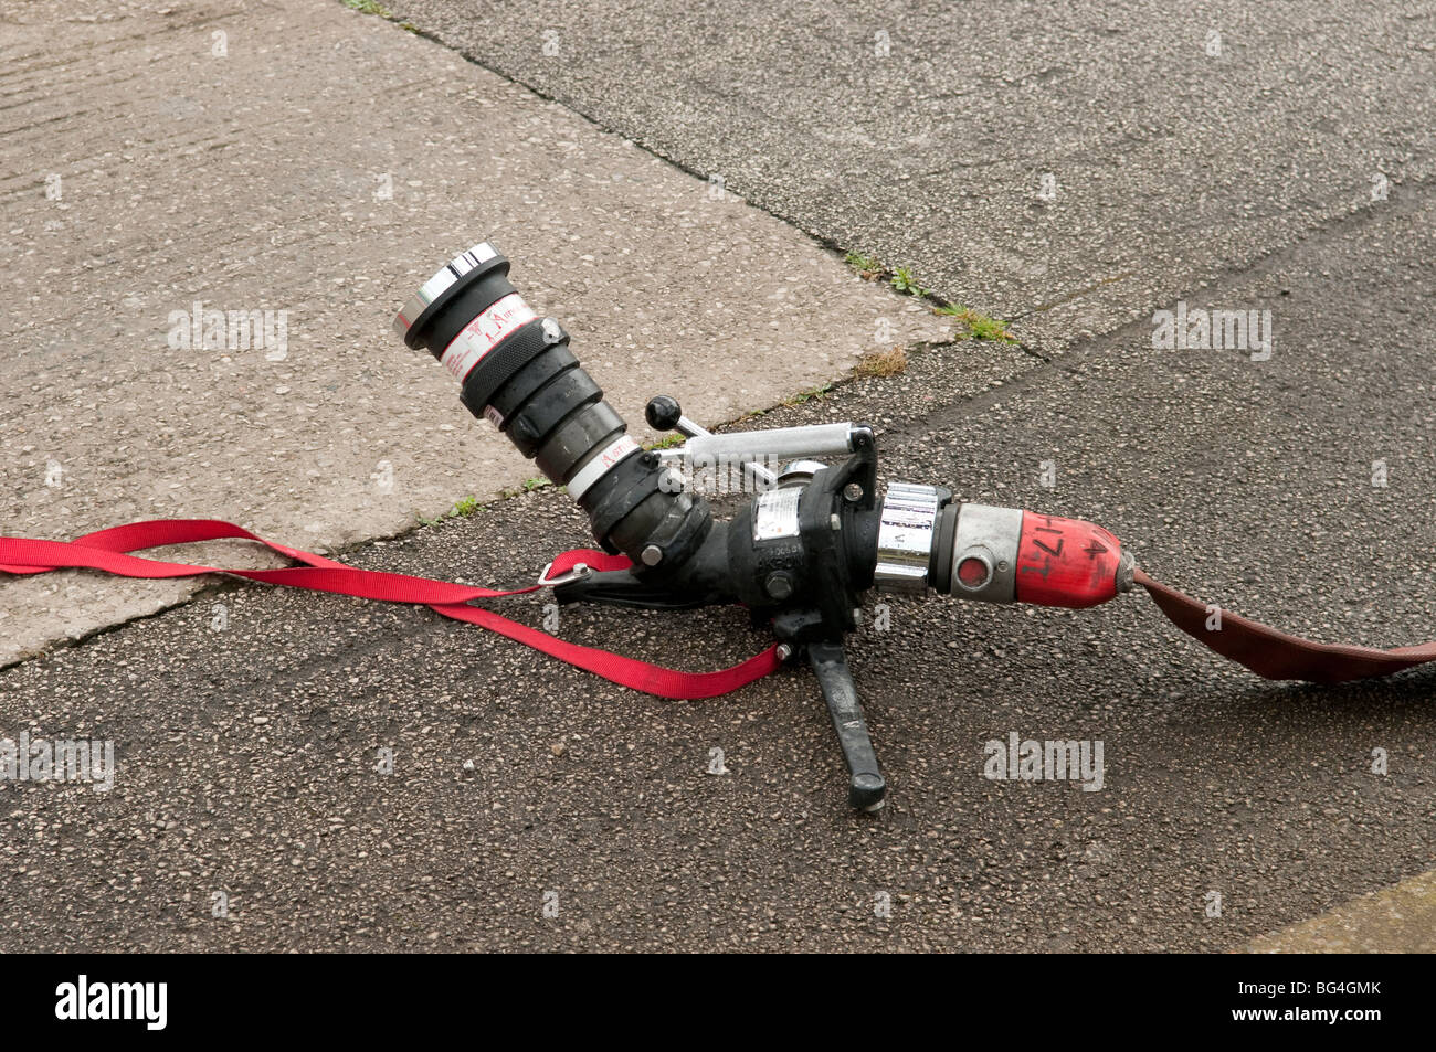
{"type": "Polygon", "coordinates": [[[648,403],[649,425],[686,441],[643,449],[570,350],[569,334],[524,303],[508,271],[493,245],[474,245],[424,283],[396,314],[395,330],[442,363],[474,416],[490,421],[567,489],[587,514],[597,550],[564,553],[538,583],[497,591],[359,570],[217,520],[158,520],[73,541],[0,537],[0,573],[225,573],[425,604],[663,698],[712,698],[806,656],[841,745],[849,801],[869,811],[882,807],[886,779],[843,646],[862,623],[862,596],[870,588],[1086,609],[1142,587],[1182,631],[1267,679],[1340,683],[1436,659],[1436,643],[1377,650],[1315,643],[1225,610],[1213,619],[1213,607],[1149,577],[1113,534],[1091,522],[959,501],[943,487],[910,482],[889,482],[879,499],[877,443],[863,425],[715,435],[676,400],[658,396],[648,403]],[[734,466],[757,495],[731,518],[717,518],[685,478],[695,465],[734,466]],[[302,565],[225,570],[129,554],[217,538],[260,541],[302,565]],[[546,587],[559,603],[661,610],[737,603],[777,643],[731,669],[691,673],[567,643],[474,606],[546,587]]]}

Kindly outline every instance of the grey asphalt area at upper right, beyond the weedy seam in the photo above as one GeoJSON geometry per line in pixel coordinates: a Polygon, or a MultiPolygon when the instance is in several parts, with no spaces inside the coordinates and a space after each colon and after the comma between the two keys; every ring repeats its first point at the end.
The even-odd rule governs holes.
{"type": "Polygon", "coordinates": [[[386,6],[1047,353],[1433,171],[1429,0],[386,6]]]}

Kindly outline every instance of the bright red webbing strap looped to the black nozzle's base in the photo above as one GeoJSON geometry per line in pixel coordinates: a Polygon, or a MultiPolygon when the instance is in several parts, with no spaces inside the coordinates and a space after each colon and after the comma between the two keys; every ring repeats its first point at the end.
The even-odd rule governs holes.
{"type": "MultiPolygon", "coordinates": [[[[623,570],[632,565],[622,555],[609,555],[592,548],[574,548],[554,558],[547,576],[553,578],[572,570],[577,563],[586,563],[595,570],[623,570]]],[[[43,574],[59,568],[103,570],[119,577],[142,578],[231,574],[264,584],[283,584],[310,591],[330,591],[356,598],[373,598],[385,603],[422,603],[444,617],[497,631],[561,662],[603,676],[620,686],[678,700],[725,695],[767,676],[781,664],[777,653],[778,649],[773,646],[750,657],[747,662],[718,672],[665,669],[607,650],[566,643],[544,631],[501,617],[491,610],[468,606],[477,598],[500,598],[503,596],[521,596],[537,591],[541,587],[538,584],[511,591],[495,591],[493,588],[437,581],[428,577],[358,570],[323,555],[266,541],[263,537],[251,534],[248,530],[243,530],[233,522],[213,518],[129,522],[128,525],[85,534],[83,537],[76,537],[73,541],[37,541],[26,537],[0,537],[0,573],[43,574]],[[283,570],[225,570],[188,563],[165,563],[128,554],[141,548],[221,538],[258,541],[273,551],[304,565],[286,567],[283,570]]]]}

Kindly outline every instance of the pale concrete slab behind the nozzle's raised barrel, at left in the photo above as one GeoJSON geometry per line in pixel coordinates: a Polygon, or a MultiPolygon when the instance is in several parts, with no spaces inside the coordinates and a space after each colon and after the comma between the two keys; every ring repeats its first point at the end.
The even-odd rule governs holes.
{"type": "MultiPolygon", "coordinates": [[[[946,333],[732,194],[326,0],[0,0],[0,210],[11,535],[213,517],[326,550],[537,474],[435,418],[452,383],[388,329],[484,237],[639,425],[653,393],[731,419],[946,333]]],[[[7,581],[0,663],[188,590],[7,581]]]]}

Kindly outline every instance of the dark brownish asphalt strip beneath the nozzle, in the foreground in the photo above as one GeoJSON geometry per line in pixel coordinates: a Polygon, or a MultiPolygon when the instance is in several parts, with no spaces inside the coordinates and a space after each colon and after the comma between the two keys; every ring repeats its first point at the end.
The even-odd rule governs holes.
{"type": "MultiPolygon", "coordinates": [[[[1025,370],[959,343],[763,423],[869,421],[889,479],[1091,518],[1162,580],[1292,631],[1417,642],[1436,624],[1430,220],[1403,192],[1200,290],[1279,309],[1268,362],[1153,350],[1150,324],[1025,370]],[[974,379],[979,359],[1012,382],[974,379]]],[[[540,491],[355,561],[517,583],[583,531],[540,491]]],[[[121,766],[108,794],[0,789],[4,941],[1218,950],[1432,864],[1436,673],[1268,685],[1140,596],[893,600],[890,619],[852,646],[890,779],[876,817],[849,812],[798,670],[662,702],[424,610],[248,588],[26,662],[0,673],[6,725],[113,738],[121,766]],[[1101,741],[1104,788],[988,781],[984,742],[1010,732],[1101,741]]],[[[564,609],[559,634],[695,669],[764,643],[734,610],[564,609]]]]}

